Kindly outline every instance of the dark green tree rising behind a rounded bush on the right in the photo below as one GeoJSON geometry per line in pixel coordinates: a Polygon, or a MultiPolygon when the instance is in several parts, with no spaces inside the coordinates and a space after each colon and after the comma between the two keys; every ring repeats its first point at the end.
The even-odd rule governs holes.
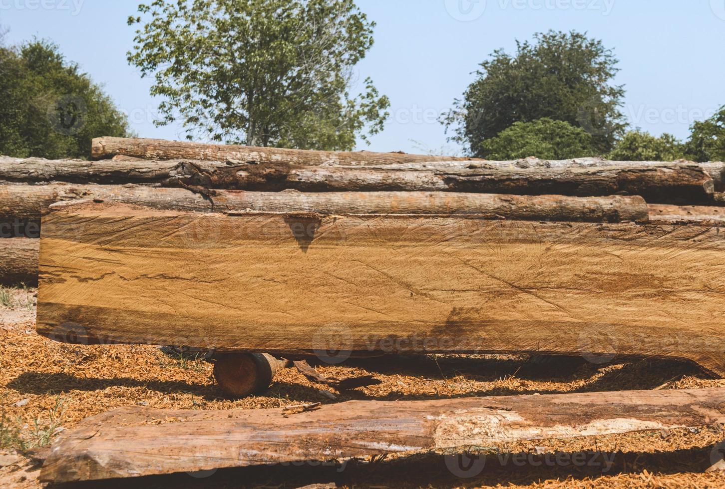
{"type": "Polygon", "coordinates": [[[618,59],[582,33],[550,30],[534,40],[516,41],[515,56],[499,49],[481,63],[463,100],[442,119],[455,130],[452,140],[484,156],[486,139],[514,122],[547,117],[584,128],[600,152],[609,151],[625,127],[618,109],[624,88],[610,85],[618,59]]]}

